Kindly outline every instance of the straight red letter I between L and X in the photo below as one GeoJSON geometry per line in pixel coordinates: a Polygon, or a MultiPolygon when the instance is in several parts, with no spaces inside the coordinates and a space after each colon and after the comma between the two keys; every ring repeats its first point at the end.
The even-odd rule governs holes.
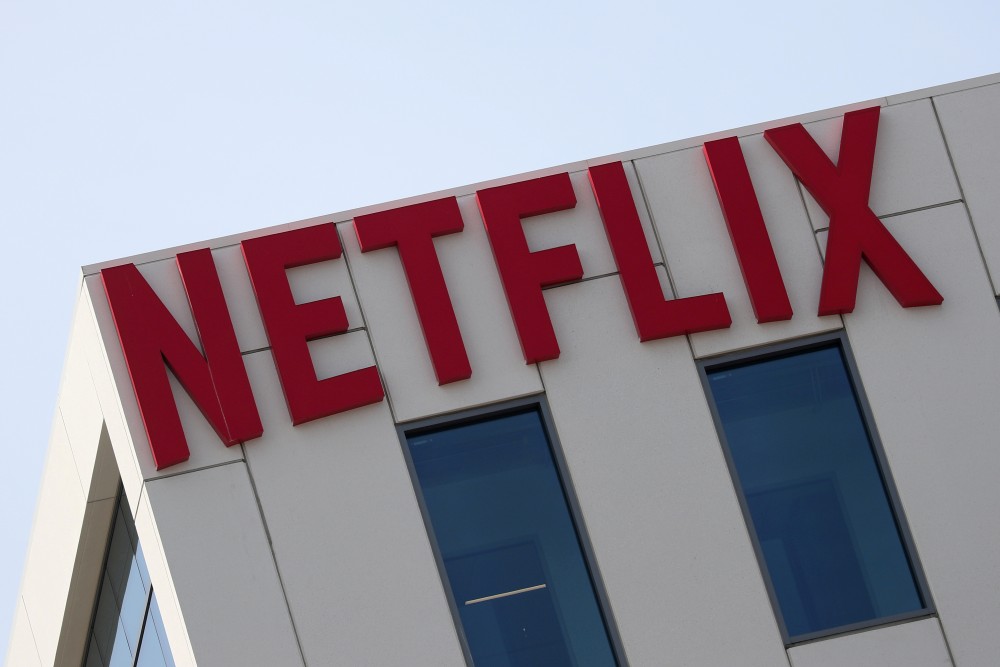
{"type": "Polygon", "coordinates": [[[791,319],[792,304],[774,257],[740,140],[728,137],[709,141],[704,152],[757,322],[791,319]]]}

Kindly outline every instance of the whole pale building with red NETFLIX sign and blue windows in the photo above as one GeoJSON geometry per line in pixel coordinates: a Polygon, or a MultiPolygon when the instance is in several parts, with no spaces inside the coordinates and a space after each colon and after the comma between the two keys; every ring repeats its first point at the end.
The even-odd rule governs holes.
{"type": "Polygon", "coordinates": [[[1000,661],[1000,76],[83,273],[9,665],[1000,661]]]}

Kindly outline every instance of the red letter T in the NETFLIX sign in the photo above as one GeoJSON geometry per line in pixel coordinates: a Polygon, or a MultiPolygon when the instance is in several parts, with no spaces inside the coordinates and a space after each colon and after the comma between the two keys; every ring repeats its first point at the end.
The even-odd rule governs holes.
{"type": "Polygon", "coordinates": [[[463,228],[462,213],[454,197],[354,219],[361,252],[396,246],[438,384],[472,376],[433,241],[435,236],[454,234],[463,228]]]}

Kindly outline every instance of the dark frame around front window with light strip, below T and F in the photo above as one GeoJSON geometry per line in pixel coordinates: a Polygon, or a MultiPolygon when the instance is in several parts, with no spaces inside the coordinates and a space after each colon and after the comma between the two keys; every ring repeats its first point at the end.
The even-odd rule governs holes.
{"type": "Polygon", "coordinates": [[[584,566],[587,569],[590,585],[593,589],[594,597],[597,600],[598,611],[601,615],[601,620],[604,623],[605,632],[608,635],[611,653],[619,667],[628,667],[629,663],[625,656],[621,635],[618,632],[618,626],[615,623],[614,615],[611,611],[610,599],[608,598],[607,590],[604,586],[604,580],[602,579],[598,568],[597,557],[594,553],[593,545],[591,544],[590,537],[587,533],[586,525],[583,520],[583,512],[577,499],[576,490],[574,489],[572,480],[569,476],[569,466],[566,463],[562,445],[559,441],[559,436],[556,433],[555,421],[552,418],[552,413],[549,410],[548,403],[546,402],[543,394],[491,403],[489,405],[468,408],[456,412],[448,412],[445,414],[434,415],[423,419],[409,420],[396,424],[396,433],[399,436],[400,447],[403,451],[403,458],[406,461],[406,469],[410,474],[410,482],[413,485],[413,492],[417,498],[417,504],[420,507],[420,516],[424,523],[427,539],[431,545],[431,550],[434,553],[434,562],[437,565],[438,576],[441,578],[441,585],[444,588],[445,597],[448,600],[448,608],[451,611],[452,621],[455,624],[455,632],[458,635],[459,644],[462,647],[462,654],[465,656],[466,664],[472,667],[475,664],[472,660],[472,651],[469,648],[469,643],[465,636],[465,628],[462,625],[458,603],[455,600],[451,582],[448,580],[448,572],[445,569],[444,557],[438,545],[437,535],[434,532],[434,526],[431,523],[430,513],[424,501],[423,489],[420,486],[420,480],[417,477],[416,467],[414,466],[413,458],[410,455],[407,438],[419,435],[420,433],[431,432],[442,428],[489,421],[491,419],[507,415],[527,412],[538,413],[542,429],[545,433],[546,439],[548,440],[549,451],[552,454],[556,475],[559,478],[559,484],[562,487],[563,496],[566,499],[566,506],[569,510],[570,521],[573,524],[577,542],[580,545],[580,551],[583,555],[584,566]]]}

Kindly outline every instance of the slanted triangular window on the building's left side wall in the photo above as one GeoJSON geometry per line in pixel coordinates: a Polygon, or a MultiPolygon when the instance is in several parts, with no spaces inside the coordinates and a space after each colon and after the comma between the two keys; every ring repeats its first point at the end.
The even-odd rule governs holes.
{"type": "Polygon", "coordinates": [[[119,493],[86,667],[173,667],[135,524],[119,493]]]}

